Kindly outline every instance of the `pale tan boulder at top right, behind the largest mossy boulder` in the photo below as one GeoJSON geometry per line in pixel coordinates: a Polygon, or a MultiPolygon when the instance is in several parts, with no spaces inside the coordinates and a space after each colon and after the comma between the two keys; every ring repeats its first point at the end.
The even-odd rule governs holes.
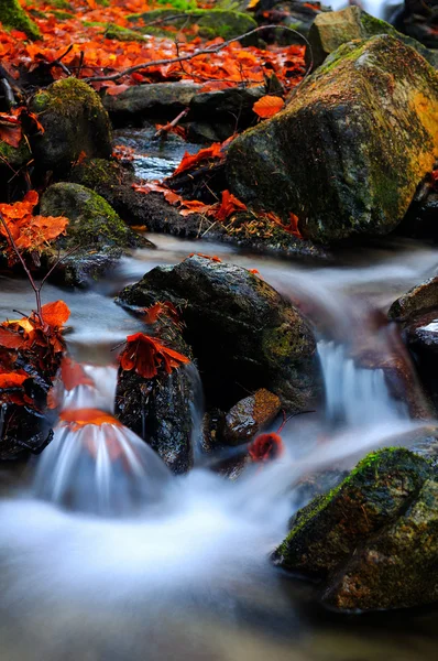
{"type": "Polygon", "coordinates": [[[379,34],[391,34],[397,37],[404,44],[415,48],[429,64],[438,67],[438,53],[429,51],[415,39],[402,34],[390,23],[375,19],[357,6],[341,11],[319,13],[316,17],[308,34],[311,50],[306,50],[306,63],[309,65],[313,59],[316,68],[342,44],[379,34]]]}

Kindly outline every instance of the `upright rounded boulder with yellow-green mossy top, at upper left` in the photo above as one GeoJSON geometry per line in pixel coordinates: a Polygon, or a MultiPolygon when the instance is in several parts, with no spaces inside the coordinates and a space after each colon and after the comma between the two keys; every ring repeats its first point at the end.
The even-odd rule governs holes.
{"type": "Polygon", "coordinates": [[[39,91],[31,101],[44,127],[32,139],[35,165],[56,177],[68,172],[79,156],[111,155],[111,127],[99,95],[83,80],[65,78],[39,91]]]}

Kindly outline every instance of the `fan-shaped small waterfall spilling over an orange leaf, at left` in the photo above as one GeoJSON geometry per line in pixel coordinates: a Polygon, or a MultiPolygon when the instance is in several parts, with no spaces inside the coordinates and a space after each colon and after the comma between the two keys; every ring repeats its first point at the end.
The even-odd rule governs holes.
{"type": "Polygon", "coordinates": [[[171,472],[136,434],[112,419],[117,370],[85,367],[91,382],[64,394],[62,420],[42,454],[34,495],[75,511],[129,516],[163,496],[171,472]],[[92,384],[91,384],[92,383],[92,384]]]}

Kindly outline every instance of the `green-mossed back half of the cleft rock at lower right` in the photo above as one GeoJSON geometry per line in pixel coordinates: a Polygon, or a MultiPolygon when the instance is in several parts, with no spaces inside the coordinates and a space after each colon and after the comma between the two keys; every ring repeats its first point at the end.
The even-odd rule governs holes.
{"type": "Polygon", "coordinates": [[[368,455],[335,489],[298,512],[274,554],[291,572],[328,578],[417,498],[430,464],[404,448],[368,455]]]}

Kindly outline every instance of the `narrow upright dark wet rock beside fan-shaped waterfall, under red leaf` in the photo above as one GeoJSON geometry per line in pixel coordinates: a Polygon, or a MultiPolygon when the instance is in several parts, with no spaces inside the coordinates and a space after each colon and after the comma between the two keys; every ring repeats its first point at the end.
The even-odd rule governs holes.
{"type": "MultiPolygon", "coordinates": [[[[157,328],[155,327],[154,332],[157,328]]],[[[160,329],[163,333],[163,328],[160,329]]],[[[173,325],[164,329],[165,344],[191,358],[188,345],[173,325]]],[[[172,373],[145,379],[135,371],[119,370],[116,415],[146,441],[175,474],[193,466],[193,410],[196,369],[182,366],[172,373]]]]}

